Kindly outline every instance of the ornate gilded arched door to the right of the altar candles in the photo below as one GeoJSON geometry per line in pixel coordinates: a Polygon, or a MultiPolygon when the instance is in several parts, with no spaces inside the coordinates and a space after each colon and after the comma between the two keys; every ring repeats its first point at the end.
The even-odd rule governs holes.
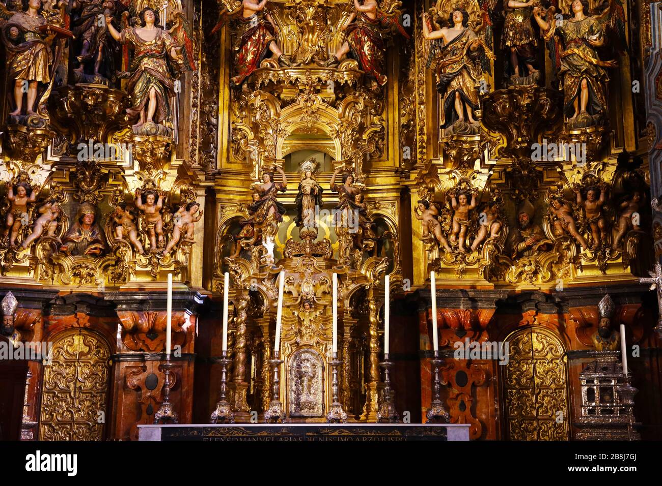
{"type": "Polygon", "coordinates": [[[510,440],[567,440],[567,369],[563,344],[546,329],[528,327],[508,336],[504,372],[510,440]]]}

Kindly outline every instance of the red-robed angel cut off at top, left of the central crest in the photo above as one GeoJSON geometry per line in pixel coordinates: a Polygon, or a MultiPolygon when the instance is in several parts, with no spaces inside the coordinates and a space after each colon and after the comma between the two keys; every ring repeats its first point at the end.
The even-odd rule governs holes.
{"type": "Polygon", "coordinates": [[[234,51],[234,66],[236,75],[230,79],[232,85],[240,85],[246,77],[260,67],[269,52],[275,56],[281,66],[291,65],[289,58],[276,41],[276,24],[267,11],[269,0],[242,0],[230,3],[224,0],[226,10],[221,13],[218,24],[212,29],[212,34],[220,29],[228,17],[236,19],[239,32],[232,48],[234,51]]]}

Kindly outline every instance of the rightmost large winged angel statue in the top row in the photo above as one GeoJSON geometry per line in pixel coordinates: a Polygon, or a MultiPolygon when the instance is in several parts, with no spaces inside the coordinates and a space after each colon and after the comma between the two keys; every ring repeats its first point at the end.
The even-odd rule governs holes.
{"type": "MultiPolygon", "coordinates": [[[[553,0],[555,2],[556,0],[553,0]]],[[[544,32],[549,57],[557,70],[563,89],[563,113],[568,128],[586,128],[608,120],[606,69],[616,67],[616,60],[603,61],[597,49],[612,47],[628,51],[625,13],[620,0],[560,0],[549,9],[536,7],[534,19],[544,32]],[[570,12],[566,19],[560,13],[570,12]]]]}

